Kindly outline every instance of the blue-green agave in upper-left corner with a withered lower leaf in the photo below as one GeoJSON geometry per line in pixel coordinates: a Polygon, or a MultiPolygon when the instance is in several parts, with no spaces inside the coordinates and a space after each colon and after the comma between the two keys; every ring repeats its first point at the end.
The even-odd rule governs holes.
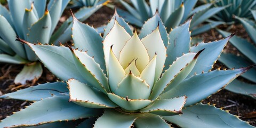
{"type": "MultiPolygon", "coordinates": [[[[25,84],[27,80],[38,79],[43,71],[41,63],[36,62],[36,54],[27,45],[15,41],[15,36],[36,44],[68,41],[71,38],[71,17],[53,34],[68,2],[51,0],[46,9],[46,0],[9,0],[10,12],[0,5],[0,62],[25,64],[14,83],[25,84]]],[[[85,20],[102,5],[83,8],[76,15],[85,20]]]]}

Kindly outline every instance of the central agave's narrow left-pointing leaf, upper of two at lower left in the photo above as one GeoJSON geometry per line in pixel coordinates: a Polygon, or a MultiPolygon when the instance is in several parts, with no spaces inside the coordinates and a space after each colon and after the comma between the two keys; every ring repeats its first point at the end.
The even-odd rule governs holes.
{"type": "Polygon", "coordinates": [[[63,82],[45,83],[37,86],[31,86],[27,89],[18,90],[16,92],[7,93],[0,98],[19,99],[27,101],[39,101],[54,95],[68,95],[67,84],[63,82]]]}

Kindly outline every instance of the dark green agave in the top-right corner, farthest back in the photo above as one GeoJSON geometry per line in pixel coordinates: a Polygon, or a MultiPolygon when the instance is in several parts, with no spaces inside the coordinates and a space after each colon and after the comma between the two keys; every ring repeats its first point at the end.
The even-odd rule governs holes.
{"type": "Polygon", "coordinates": [[[213,0],[202,0],[204,3],[213,3],[214,6],[228,6],[224,10],[218,12],[213,16],[215,20],[218,21],[224,21],[228,24],[234,23],[233,15],[237,15],[241,18],[247,18],[252,19],[252,13],[250,10],[256,9],[256,1],[254,0],[248,0],[248,1],[242,1],[242,0],[220,0],[220,1],[213,1],[213,0]]]}

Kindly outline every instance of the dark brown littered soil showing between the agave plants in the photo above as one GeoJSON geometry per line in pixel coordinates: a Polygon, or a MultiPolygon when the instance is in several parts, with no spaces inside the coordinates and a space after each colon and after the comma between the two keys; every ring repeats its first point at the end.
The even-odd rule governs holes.
{"type": "MultiPolygon", "coordinates": [[[[70,12],[67,10],[66,15],[70,15],[70,12]]],[[[99,25],[107,24],[108,20],[111,19],[114,14],[114,10],[109,9],[104,6],[99,11],[94,13],[89,19],[85,22],[94,27],[99,27],[99,25]]],[[[222,26],[225,28],[225,26],[222,26]]],[[[235,26],[237,35],[245,35],[245,38],[248,38],[244,34],[244,29],[241,26],[235,26]]],[[[234,29],[232,28],[232,29],[234,29]]],[[[214,30],[211,30],[207,33],[199,35],[198,37],[204,38],[205,42],[214,41],[215,39],[220,39],[221,36],[214,30]]],[[[237,54],[237,51],[233,46],[228,44],[225,48],[227,51],[233,51],[237,54]]],[[[215,67],[222,66],[220,63],[216,63],[215,67]]],[[[28,83],[26,85],[14,85],[13,81],[15,76],[21,71],[22,65],[9,65],[9,64],[0,64],[0,95],[5,93],[14,92],[15,90],[23,89],[28,86],[36,85],[35,83],[28,83]]],[[[41,78],[38,79],[37,83],[45,82],[54,82],[56,78],[50,73],[49,70],[44,68],[44,72],[41,78]]],[[[245,97],[244,95],[235,94],[226,90],[221,90],[220,92],[213,94],[210,98],[203,101],[203,103],[216,104],[215,106],[220,108],[224,107],[224,110],[230,110],[229,113],[241,116],[240,119],[243,121],[249,122],[251,125],[256,126],[256,100],[245,97]],[[253,118],[247,116],[248,114],[254,115],[253,118]],[[249,118],[246,118],[249,117],[249,118]]],[[[0,99],[0,120],[6,118],[6,116],[12,115],[12,112],[19,111],[20,109],[25,108],[25,106],[30,105],[28,101],[13,100],[13,99],[0,99]]]]}

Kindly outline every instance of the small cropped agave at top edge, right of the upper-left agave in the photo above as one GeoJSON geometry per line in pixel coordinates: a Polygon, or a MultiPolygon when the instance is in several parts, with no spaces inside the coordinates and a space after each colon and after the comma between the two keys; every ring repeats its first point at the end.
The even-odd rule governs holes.
{"type": "Polygon", "coordinates": [[[105,3],[107,0],[71,0],[68,7],[76,8],[76,7],[92,7],[97,6],[100,3],[105,3]]]}

